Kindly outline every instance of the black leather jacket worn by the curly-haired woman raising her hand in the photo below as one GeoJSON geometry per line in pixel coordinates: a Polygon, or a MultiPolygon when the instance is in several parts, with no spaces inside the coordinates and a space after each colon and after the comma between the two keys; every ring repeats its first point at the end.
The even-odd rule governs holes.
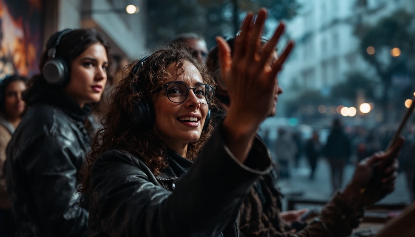
{"type": "Polygon", "coordinates": [[[220,130],[193,164],[168,149],[169,166],[157,176],[127,152],[101,154],[90,173],[88,236],[239,236],[239,205],[254,181],[270,171],[271,158],[256,140],[240,164],[220,130]]]}

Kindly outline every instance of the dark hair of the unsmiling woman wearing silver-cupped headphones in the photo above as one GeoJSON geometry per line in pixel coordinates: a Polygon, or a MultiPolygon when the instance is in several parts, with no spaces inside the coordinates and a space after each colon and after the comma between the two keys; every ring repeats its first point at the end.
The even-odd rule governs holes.
{"type": "MultiPolygon", "coordinates": [[[[52,35],[49,40],[52,37],[56,37],[56,33],[52,35]]],[[[86,49],[88,49],[89,46],[95,43],[100,43],[104,46],[105,51],[107,52],[108,66],[110,66],[110,44],[106,39],[104,39],[101,34],[96,32],[94,29],[74,29],[67,34],[64,34],[58,46],[56,46],[56,55],[65,60],[66,65],[69,67],[68,72],[70,73],[73,60],[81,55],[86,49]]],[[[43,66],[45,65],[48,58],[48,49],[45,49],[40,59],[40,73],[33,76],[29,80],[28,89],[22,95],[27,107],[33,104],[33,99],[35,98],[35,95],[39,93],[39,89],[50,88],[56,90],[56,86],[47,83],[43,76],[43,66]]]]}

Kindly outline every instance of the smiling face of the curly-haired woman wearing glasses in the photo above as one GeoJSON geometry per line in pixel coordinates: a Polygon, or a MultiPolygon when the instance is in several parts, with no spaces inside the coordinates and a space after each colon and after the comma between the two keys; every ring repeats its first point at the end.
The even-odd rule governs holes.
{"type": "MultiPolygon", "coordinates": [[[[182,68],[183,73],[180,68],[176,68],[176,64],[170,64],[166,71],[171,76],[163,84],[178,81],[188,87],[197,87],[204,83],[198,68],[192,63],[184,61],[182,68]]],[[[179,87],[170,88],[169,86],[167,92],[164,88],[152,97],[156,115],[153,131],[168,147],[175,151],[187,147],[189,142],[196,142],[200,138],[208,111],[208,105],[200,103],[200,99],[192,89],[189,90],[187,98],[181,103],[174,103],[169,99],[169,97],[173,99],[173,96],[180,92],[179,87]]]]}

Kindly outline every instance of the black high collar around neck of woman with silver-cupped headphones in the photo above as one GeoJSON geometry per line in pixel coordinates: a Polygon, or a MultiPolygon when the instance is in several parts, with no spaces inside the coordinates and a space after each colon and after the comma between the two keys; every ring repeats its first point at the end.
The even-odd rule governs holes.
{"type": "Polygon", "coordinates": [[[80,122],[85,121],[92,109],[87,104],[81,108],[75,100],[66,96],[59,88],[41,88],[31,102],[32,104],[44,103],[62,108],[70,117],[80,122]]]}

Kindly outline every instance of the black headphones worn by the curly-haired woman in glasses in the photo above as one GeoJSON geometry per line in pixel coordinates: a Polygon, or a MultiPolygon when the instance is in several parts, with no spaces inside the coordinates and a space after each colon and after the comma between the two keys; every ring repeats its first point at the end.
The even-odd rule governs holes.
{"type": "MultiPolygon", "coordinates": [[[[140,59],[137,62],[137,64],[135,64],[134,68],[132,69],[133,77],[144,66],[144,62],[150,56],[151,55],[145,56],[144,58],[140,59]]],[[[137,88],[137,84],[134,86],[134,90],[136,92],[139,91],[139,88],[137,88]]],[[[203,130],[206,130],[207,126],[209,125],[211,116],[212,112],[209,109],[207,110],[205,123],[203,124],[203,130]]],[[[137,103],[137,105],[134,105],[132,113],[129,115],[129,117],[135,125],[147,131],[150,130],[154,126],[154,121],[156,120],[154,105],[151,102],[150,98],[143,98],[139,103],[137,103]]]]}

